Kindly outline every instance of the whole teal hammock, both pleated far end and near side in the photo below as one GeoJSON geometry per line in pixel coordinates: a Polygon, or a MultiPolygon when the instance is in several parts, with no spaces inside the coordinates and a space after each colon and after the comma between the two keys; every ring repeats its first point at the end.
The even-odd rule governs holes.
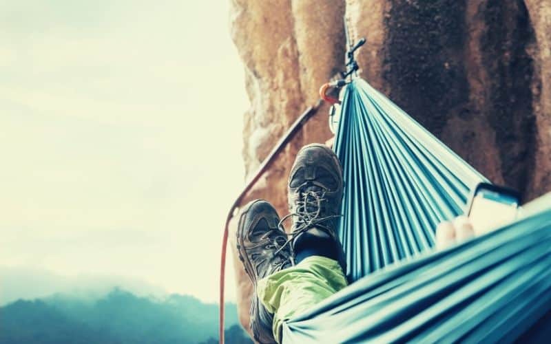
{"type": "Polygon", "coordinates": [[[435,252],[437,224],[463,213],[486,179],[359,78],[344,94],[335,151],[345,180],[340,239],[355,283],[290,319],[284,343],[546,334],[547,322],[534,324],[551,309],[551,197],[525,219],[435,252]]]}

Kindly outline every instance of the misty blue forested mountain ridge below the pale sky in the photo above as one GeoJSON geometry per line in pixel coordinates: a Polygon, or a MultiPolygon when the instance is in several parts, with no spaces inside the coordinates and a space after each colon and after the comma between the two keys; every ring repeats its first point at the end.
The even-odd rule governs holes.
{"type": "MultiPolygon", "coordinates": [[[[236,305],[226,308],[227,343],[252,343],[238,325],[236,305]]],[[[216,343],[217,326],[216,304],[178,294],[137,297],[118,288],[96,300],[56,294],[0,308],[1,344],[216,343]]]]}

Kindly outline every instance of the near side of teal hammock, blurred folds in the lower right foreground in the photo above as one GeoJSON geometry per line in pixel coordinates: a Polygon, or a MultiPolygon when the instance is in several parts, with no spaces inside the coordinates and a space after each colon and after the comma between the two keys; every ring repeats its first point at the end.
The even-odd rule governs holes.
{"type": "Polygon", "coordinates": [[[284,343],[548,341],[550,202],[493,233],[360,279],[288,321],[284,343]]]}

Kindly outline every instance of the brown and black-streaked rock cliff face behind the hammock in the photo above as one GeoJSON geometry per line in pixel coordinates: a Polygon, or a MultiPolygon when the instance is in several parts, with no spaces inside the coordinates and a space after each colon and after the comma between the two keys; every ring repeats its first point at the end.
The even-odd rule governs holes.
{"type": "MultiPolygon", "coordinates": [[[[233,0],[230,17],[251,100],[248,175],[343,69],[346,22],[354,39],[367,39],[357,59],[371,85],[492,182],[526,199],[551,191],[550,0],[233,0]]],[[[326,114],[322,107],[249,199],[287,213],[294,155],[331,137],[326,114]]],[[[239,261],[236,269],[248,328],[251,286],[239,261]]]]}

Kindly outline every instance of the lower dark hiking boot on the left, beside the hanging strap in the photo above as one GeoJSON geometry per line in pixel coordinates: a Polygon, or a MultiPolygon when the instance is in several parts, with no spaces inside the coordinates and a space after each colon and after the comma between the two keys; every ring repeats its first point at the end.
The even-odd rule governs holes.
{"type": "Polygon", "coordinates": [[[256,283],[274,272],[292,265],[291,247],[287,235],[279,227],[280,217],[275,208],[264,200],[254,200],[243,209],[237,230],[239,259],[255,288],[251,300],[251,330],[258,343],[275,343],[273,314],[256,296],[256,283]]]}

